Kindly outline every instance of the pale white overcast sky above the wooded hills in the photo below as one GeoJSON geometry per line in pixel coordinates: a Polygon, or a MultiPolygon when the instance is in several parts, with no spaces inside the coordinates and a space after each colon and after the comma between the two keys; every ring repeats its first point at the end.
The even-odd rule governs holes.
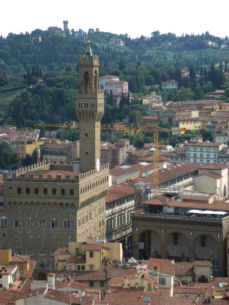
{"type": "Polygon", "coordinates": [[[2,1],[0,5],[0,35],[20,34],[50,26],[63,29],[68,20],[71,30],[99,28],[114,34],[127,33],[131,38],[149,36],[155,31],[184,34],[210,34],[229,37],[228,2],[206,1],[2,1]],[[59,3],[59,5],[58,5],[59,3]],[[98,3],[96,6],[95,3],[98,3]]]}

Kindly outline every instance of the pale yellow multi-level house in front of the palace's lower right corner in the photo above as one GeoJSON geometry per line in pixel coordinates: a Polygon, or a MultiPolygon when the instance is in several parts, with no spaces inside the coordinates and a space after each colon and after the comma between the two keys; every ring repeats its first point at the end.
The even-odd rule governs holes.
{"type": "Polygon", "coordinates": [[[69,248],[56,249],[52,256],[55,271],[99,271],[105,268],[108,260],[122,259],[122,244],[87,237],[86,242],[69,242],[69,248]]]}

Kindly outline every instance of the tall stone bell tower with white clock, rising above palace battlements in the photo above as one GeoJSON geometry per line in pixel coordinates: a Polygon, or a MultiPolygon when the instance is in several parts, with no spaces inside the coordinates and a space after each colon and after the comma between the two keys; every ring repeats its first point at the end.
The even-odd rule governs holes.
{"type": "Polygon", "coordinates": [[[79,89],[75,111],[79,121],[80,172],[100,170],[100,121],[104,114],[104,89],[98,88],[99,56],[88,41],[85,55],[79,56],[79,89]]]}

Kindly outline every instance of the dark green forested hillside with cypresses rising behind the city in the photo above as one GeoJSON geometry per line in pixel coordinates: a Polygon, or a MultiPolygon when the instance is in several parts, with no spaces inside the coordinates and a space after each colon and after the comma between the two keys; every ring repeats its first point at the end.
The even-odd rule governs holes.
{"type": "MultiPolygon", "coordinates": [[[[3,117],[0,124],[32,127],[38,120],[50,123],[76,120],[78,55],[85,53],[85,34],[81,29],[72,29],[63,38],[36,29],[31,34],[10,33],[6,38],[0,37],[1,92],[10,88],[17,91],[12,102],[0,105],[3,117]],[[42,41],[37,40],[36,34],[42,35],[42,41]],[[38,77],[45,82],[36,84],[38,77]],[[22,87],[27,85],[34,87],[24,90],[22,87]],[[15,87],[20,88],[20,93],[15,87]]],[[[176,37],[174,33],[154,31],[149,38],[132,39],[127,34],[99,29],[89,29],[88,34],[93,54],[100,58],[100,76],[116,75],[128,81],[134,97],[130,107],[129,97],[123,96],[120,110],[111,106],[110,96],[106,97],[103,123],[117,122],[133,109],[144,113],[140,101],[147,94],[145,86],[160,85],[162,81],[175,79],[179,83],[181,90],[177,94],[162,94],[164,100],[174,101],[201,99],[207,91],[227,87],[224,78],[229,62],[227,37],[222,40],[208,32],[176,37]],[[123,39],[124,46],[109,44],[115,38],[123,39]],[[216,46],[210,48],[207,41],[216,46]],[[226,47],[222,49],[222,45],[226,47]],[[216,67],[215,63],[220,64],[216,67]],[[190,77],[181,77],[184,66],[190,70],[190,77]]]]}

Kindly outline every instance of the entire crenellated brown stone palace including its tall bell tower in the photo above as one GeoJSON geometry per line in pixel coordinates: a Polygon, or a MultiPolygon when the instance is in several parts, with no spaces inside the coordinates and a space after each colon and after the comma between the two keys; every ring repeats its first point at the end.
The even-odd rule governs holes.
{"type": "Polygon", "coordinates": [[[0,248],[36,260],[36,279],[46,279],[54,270],[50,255],[56,248],[87,236],[105,238],[109,165],[100,165],[104,90],[98,88],[98,68],[98,56],[88,41],[85,55],[79,56],[75,95],[80,126],[77,166],[43,161],[3,175],[0,248]]]}

